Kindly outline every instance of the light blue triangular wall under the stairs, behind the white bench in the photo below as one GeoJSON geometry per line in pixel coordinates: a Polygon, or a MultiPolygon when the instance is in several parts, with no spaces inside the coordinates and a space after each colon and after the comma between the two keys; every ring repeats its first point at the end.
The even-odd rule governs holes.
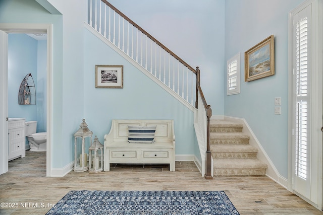
{"type": "Polygon", "coordinates": [[[193,112],[88,30],[84,35],[84,116],[93,136],[103,144],[112,119],[174,119],[176,155],[193,155],[193,112]],[[123,65],[123,89],[95,88],[95,65],[123,65]]]}

